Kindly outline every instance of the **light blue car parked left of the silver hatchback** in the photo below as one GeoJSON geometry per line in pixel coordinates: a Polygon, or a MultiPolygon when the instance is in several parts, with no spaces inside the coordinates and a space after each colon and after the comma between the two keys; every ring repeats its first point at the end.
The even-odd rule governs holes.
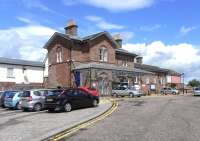
{"type": "Polygon", "coordinates": [[[6,108],[21,109],[22,91],[9,91],[4,98],[4,106],[6,108]]]}

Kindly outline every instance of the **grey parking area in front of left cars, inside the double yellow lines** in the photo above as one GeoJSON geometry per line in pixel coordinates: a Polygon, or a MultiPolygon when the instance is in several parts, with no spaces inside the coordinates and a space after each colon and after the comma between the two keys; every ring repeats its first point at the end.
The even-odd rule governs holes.
{"type": "Polygon", "coordinates": [[[0,141],[39,141],[109,109],[112,103],[102,98],[98,107],[72,112],[22,112],[0,108],[0,141]]]}

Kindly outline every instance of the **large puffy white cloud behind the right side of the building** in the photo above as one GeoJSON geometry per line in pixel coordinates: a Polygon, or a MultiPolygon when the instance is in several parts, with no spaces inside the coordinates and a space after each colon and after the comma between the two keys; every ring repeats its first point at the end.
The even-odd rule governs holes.
{"type": "Polygon", "coordinates": [[[123,48],[140,53],[144,63],[174,69],[186,74],[186,80],[200,78],[200,49],[187,43],[166,45],[161,41],[151,44],[124,44],[123,48]]]}

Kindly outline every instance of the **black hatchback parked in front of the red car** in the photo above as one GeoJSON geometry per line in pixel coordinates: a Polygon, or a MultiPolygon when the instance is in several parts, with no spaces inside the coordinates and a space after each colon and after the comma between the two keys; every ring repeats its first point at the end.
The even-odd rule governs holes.
{"type": "Polygon", "coordinates": [[[99,94],[88,88],[71,88],[63,91],[54,90],[48,94],[45,107],[48,111],[66,111],[98,106],[99,94]],[[91,92],[93,91],[93,92],[91,92]]]}

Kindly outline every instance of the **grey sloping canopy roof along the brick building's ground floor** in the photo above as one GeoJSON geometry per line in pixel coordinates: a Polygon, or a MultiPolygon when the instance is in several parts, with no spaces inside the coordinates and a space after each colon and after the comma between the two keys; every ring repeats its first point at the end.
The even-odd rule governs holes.
{"type": "Polygon", "coordinates": [[[97,63],[97,62],[86,63],[86,64],[76,64],[74,70],[89,69],[89,68],[128,71],[128,72],[143,73],[143,74],[154,74],[152,72],[141,70],[138,68],[128,68],[128,67],[118,66],[115,64],[97,63]]]}

